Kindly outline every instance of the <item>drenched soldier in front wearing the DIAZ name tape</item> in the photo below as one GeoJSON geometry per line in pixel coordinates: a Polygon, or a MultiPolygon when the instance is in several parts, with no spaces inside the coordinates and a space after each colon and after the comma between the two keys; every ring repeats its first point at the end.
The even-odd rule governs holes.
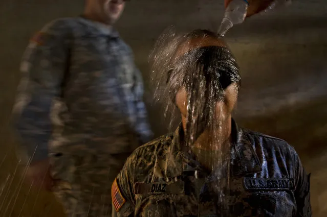
{"type": "Polygon", "coordinates": [[[172,35],[157,42],[152,70],[165,75],[181,124],[128,157],[113,216],[310,217],[310,175],[294,148],[232,118],[241,76],[224,41],[205,30],[172,35]]]}

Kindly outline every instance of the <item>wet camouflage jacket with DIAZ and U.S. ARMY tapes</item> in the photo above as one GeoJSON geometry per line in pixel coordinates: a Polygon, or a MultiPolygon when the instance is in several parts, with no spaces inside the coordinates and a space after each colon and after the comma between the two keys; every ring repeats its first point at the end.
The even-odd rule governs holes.
{"type": "Polygon", "coordinates": [[[175,134],[141,146],[127,159],[112,187],[113,208],[118,212],[114,214],[311,216],[310,175],[287,142],[233,122],[229,193],[217,202],[214,171],[206,173],[184,151],[183,138],[180,126],[175,134]]]}

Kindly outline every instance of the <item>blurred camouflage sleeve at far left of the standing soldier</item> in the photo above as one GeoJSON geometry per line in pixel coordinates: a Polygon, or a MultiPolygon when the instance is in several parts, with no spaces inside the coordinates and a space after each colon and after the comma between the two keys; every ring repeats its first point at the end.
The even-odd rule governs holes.
{"type": "Polygon", "coordinates": [[[20,143],[33,161],[45,159],[52,134],[50,112],[60,96],[68,56],[66,26],[62,20],[49,23],[29,43],[20,71],[22,78],[13,109],[20,143]]]}

